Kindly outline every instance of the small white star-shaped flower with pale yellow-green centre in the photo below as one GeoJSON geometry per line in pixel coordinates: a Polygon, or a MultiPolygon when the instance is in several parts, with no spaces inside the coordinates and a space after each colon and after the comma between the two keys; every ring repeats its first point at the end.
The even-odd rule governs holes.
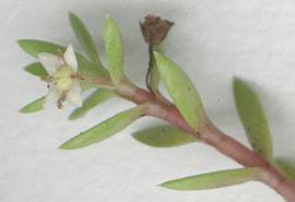
{"type": "Polygon", "coordinates": [[[49,88],[45,105],[55,102],[61,108],[63,102],[68,100],[70,104],[81,107],[82,91],[73,47],[69,45],[62,57],[40,52],[38,60],[50,74],[45,79],[49,88]]]}

